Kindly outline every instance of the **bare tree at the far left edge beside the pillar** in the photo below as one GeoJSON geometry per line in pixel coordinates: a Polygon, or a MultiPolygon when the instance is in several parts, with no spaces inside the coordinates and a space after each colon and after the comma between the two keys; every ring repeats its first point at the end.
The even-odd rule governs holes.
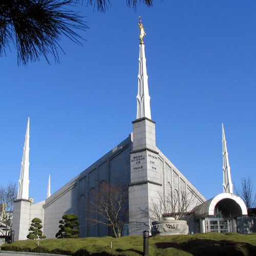
{"type": "Polygon", "coordinates": [[[7,235],[12,226],[13,200],[17,197],[17,186],[9,183],[7,186],[0,186],[0,233],[7,235]]]}

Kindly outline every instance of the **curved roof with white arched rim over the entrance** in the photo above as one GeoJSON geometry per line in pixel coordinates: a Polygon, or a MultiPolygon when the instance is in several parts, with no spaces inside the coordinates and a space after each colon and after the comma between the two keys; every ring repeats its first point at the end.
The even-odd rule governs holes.
{"type": "Polygon", "coordinates": [[[211,198],[207,201],[205,201],[204,203],[196,206],[192,211],[201,217],[206,217],[206,216],[213,216],[214,215],[214,209],[215,206],[224,199],[231,199],[234,202],[236,202],[242,211],[242,215],[247,215],[247,208],[246,205],[244,203],[244,201],[242,200],[242,198],[231,194],[231,193],[221,193],[218,196],[211,198]]]}

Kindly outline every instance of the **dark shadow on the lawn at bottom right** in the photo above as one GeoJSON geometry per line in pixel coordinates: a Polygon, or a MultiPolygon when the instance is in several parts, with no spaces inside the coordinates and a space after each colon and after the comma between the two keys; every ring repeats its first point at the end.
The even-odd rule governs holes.
{"type": "Polygon", "coordinates": [[[157,242],[155,246],[159,249],[173,247],[193,255],[256,255],[256,246],[225,240],[199,239],[184,243],[157,242]]]}

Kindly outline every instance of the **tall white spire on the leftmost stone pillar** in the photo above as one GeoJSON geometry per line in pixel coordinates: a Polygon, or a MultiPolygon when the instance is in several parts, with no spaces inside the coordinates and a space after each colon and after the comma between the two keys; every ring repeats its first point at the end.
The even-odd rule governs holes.
{"type": "Polygon", "coordinates": [[[18,180],[17,199],[29,200],[29,118],[23,148],[22,168],[20,169],[20,177],[18,180]]]}

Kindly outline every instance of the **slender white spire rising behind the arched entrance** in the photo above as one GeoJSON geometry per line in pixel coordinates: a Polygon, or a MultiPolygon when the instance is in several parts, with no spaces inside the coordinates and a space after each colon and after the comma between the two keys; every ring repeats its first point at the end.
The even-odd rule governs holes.
{"type": "Polygon", "coordinates": [[[227,142],[224,132],[224,125],[222,124],[222,158],[223,158],[223,193],[233,194],[233,184],[231,181],[230,166],[227,153],[227,142]]]}

